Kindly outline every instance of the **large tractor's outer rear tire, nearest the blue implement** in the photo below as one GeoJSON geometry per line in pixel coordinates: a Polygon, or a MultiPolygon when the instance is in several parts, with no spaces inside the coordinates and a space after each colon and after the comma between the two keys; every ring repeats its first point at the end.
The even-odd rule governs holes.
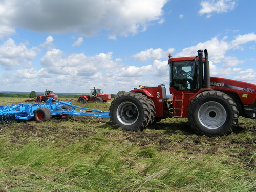
{"type": "Polygon", "coordinates": [[[119,94],[111,102],[110,120],[125,130],[142,131],[150,121],[151,110],[145,98],[136,93],[119,94]]]}

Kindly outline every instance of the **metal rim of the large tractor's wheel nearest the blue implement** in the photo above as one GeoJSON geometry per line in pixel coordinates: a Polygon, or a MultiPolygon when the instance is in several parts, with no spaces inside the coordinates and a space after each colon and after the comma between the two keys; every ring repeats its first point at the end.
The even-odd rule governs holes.
{"type": "Polygon", "coordinates": [[[137,106],[129,101],[123,102],[117,108],[117,118],[123,125],[134,124],[139,117],[137,106]]]}

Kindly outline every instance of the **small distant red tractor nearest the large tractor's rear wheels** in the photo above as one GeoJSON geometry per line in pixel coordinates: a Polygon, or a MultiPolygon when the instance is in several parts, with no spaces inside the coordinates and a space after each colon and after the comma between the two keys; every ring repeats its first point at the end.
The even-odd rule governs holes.
{"type": "Polygon", "coordinates": [[[111,100],[111,95],[103,94],[100,88],[91,89],[90,95],[80,96],[78,99],[79,103],[96,102],[102,103],[111,100]]]}

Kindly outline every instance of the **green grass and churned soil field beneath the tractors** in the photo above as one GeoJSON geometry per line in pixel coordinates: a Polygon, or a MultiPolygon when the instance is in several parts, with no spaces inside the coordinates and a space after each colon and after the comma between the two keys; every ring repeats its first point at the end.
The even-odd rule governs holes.
{"type": "MultiPolygon", "coordinates": [[[[0,98],[0,105],[23,99],[0,98]]],[[[110,103],[79,104],[108,111],[110,103]]],[[[186,119],[143,132],[73,116],[0,125],[0,191],[255,191],[256,121],[228,136],[196,135],[186,119]]]]}

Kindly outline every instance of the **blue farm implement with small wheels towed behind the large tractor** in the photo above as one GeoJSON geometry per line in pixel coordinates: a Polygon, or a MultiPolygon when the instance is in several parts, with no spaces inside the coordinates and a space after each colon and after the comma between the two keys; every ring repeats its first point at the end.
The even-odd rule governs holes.
{"type": "Polygon", "coordinates": [[[72,115],[110,117],[109,112],[81,108],[72,105],[70,102],[57,101],[49,98],[48,102],[38,104],[16,104],[0,106],[0,123],[9,123],[15,120],[30,120],[35,118],[37,122],[44,122],[52,116],[68,118],[72,115]],[[54,103],[52,101],[55,101],[54,103]],[[76,109],[80,109],[77,111],[76,109]]]}

